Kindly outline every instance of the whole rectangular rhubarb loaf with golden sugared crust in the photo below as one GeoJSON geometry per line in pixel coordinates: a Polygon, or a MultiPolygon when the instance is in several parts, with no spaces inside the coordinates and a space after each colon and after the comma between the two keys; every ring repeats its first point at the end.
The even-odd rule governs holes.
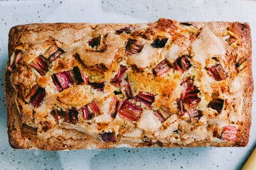
{"type": "Polygon", "coordinates": [[[247,23],[161,18],[10,30],[13,148],[246,146],[252,93],[247,23]]]}

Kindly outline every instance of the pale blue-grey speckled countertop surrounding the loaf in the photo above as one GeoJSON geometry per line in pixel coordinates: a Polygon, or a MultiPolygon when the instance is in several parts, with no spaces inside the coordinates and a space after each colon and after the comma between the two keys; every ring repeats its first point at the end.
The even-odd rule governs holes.
{"type": "MultiPolygon", "coordinates": [[[[255,105],[246,148],[119,148],[68,152],[10,148],[3,84],[11,27],[30,22],[151,22],[160,17],[179,21],[249,22],[253,55],[256,54],[256,1],[0,1],[0,169],[240,169],[256,144],[255,105]]],[[[255,62],[253,56],[253,67],[255,62]]],[[[255,75],[254,69],[254,80],[255,75]]]]}

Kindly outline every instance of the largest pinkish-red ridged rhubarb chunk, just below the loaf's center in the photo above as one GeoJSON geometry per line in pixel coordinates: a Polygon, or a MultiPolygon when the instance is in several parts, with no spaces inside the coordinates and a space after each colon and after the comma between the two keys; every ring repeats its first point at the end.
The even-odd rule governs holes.
{"type": "Polygon", "coordinates": [[[133,103],[130,103],[130,101],[127,100],[120,102],[118,106],[119,116],[121,118],[125,118],[131,121],[139,120],[142,110],[143,109],[141,109],[141,107],[138,107],[137,105],[134,105],[133,103]]]}

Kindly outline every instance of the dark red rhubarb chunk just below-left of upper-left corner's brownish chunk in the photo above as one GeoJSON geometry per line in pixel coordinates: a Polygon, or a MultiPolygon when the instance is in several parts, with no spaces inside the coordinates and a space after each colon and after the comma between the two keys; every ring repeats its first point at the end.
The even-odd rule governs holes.
{"type": "Polygon", "coordinates": [[[40,75],[45,75],[48,71],[48,63],[46,62],[46,58],[42,55],[36,57],[29,65],[38,71],[40,75]]]}

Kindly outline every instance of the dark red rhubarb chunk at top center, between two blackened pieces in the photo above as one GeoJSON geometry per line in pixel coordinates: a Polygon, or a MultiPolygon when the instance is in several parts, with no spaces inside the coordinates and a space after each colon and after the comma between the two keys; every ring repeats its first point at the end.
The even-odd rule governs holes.
{"type": "Polygon", "coordinates": [[[143,44],[141,41],[138,41],[137,39],[128,39],[128,42],[126,44],[126,53],[129,55],[136,54],[141,52],[143,49],[143,44]]]}

